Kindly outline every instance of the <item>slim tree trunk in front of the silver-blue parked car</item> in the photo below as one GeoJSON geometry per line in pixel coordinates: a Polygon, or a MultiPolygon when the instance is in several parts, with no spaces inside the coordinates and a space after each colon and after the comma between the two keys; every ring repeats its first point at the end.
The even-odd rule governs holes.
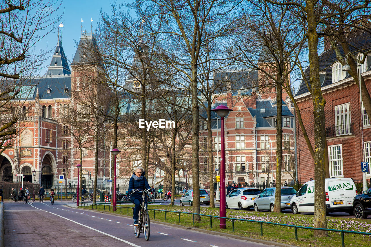
{"type": "MultiPolygon", "coordinates": [[[[282,77],[281,77],[282,78],[282,77]]],[[[277,126],[276,126],[276,195],[274,212],[281,212],[282,184],[282,82],[277,82],[277,126]]],[[[272,171],[273,172],[273,171],[272,171]]],[[[272,181],[273,182],[273,181],[272,181]]]]}

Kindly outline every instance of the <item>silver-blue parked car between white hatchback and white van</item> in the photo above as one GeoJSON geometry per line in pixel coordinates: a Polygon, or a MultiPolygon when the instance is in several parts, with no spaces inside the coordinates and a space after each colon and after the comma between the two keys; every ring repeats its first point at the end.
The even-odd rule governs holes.
{"type": "MultiPolygon", "coordinates": [[[[290,200],[296,195],[296,190],[292,187],[281,188],[281,210],[290,208],[290,200]]],[[[273,211],[275,206],[276,188],[267,188],[262,191],[254,200],[254,210],[273,211]]]]}

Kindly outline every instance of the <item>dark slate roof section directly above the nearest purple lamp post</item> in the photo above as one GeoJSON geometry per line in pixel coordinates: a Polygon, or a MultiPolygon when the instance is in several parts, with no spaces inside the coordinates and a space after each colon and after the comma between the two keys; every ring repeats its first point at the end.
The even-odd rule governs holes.
{"type": "Polygon", "coordinates": [[[214,91],[215,93],[225,92],[226,85],[229,84],[232,95],[249,95],[253,87],[257,84],[257,70],[243,70],[236,72],[215,72],[214,73],[214,91]]]}

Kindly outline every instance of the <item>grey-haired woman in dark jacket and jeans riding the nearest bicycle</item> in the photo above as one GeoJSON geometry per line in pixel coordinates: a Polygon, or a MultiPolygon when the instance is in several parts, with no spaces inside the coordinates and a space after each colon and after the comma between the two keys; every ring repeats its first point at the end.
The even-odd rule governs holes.
{"type": "MultiPolygon", "coordinates": [[[[133,172],[133,175],[130,178],[129,181],[129,189],[128,192],[131,193],[130,195],[130,201],[132,201],[135,204],[134,213],[133,213],[133,220],[134,225],[137,226],[138,224],[138,214],[139,210],[141,209],[142,204],[142,192],[135,191],[134,189],[138,190],[145,190],[150,189],[150,185],[148,184],[147,178],[144,177],[145,171],[142,167],[135,168],[135,172],[133,172]]],[[[145,202],[147,203],[147,197],[145,197],[145,202]]]]}

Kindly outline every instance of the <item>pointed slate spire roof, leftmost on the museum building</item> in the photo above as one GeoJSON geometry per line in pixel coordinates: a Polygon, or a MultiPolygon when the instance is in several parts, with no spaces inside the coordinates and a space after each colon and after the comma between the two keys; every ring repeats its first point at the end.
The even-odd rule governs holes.
{"type": "Polygon", "coordinates": [[[58,35],[57,46],[55,47],[52,60],[50,61],[50,65],[48,67],[46,75],[55,76],[55,75],[70,75],[70,74],[71,74],[71,70],[68,66],[65,52],[63,51],[62,37],[59,38],[59,35],[58,35]]]}

